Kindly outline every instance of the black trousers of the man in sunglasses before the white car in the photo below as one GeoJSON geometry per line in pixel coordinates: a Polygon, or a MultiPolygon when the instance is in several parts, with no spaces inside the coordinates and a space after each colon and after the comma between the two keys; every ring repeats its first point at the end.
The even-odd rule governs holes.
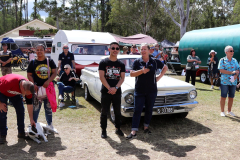
{"type": "Polygon", "coordinates": [[[115,114],[115,127],[120,128],[121,126],[121,94],[111,95],[108,93],[102,93],[100,125],[103,130],[106,130],[107,128],[107,115],[111,104],[113,105],[115,114]]]}

